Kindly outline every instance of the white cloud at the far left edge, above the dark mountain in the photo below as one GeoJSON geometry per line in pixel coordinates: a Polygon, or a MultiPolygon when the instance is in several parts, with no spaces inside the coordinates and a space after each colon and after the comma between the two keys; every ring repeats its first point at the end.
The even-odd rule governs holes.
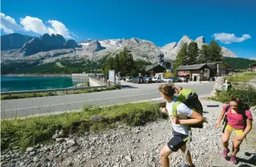
{"type": "Polygon", "coordinates": [[[1,15],[1,29],[4,30],[5,34],[11,34],[15,31],[21,31],[21,25],[18,25],[13,18],[10,16],[4,15],[4,13],[0,13],[1,15]]]}

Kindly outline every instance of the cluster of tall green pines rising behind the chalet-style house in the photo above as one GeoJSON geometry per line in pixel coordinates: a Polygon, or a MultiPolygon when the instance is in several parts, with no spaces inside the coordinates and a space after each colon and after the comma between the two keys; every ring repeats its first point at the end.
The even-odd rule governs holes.
{"type": "Polygon", "coordinates": [[[175,73],[177,74],[178,66],[222,61],[222,58],[222,47],[214,40],[209,45],[203,44],[201,50],[196,42],[185,42],[181,45],[175,60],[175,73]]]}

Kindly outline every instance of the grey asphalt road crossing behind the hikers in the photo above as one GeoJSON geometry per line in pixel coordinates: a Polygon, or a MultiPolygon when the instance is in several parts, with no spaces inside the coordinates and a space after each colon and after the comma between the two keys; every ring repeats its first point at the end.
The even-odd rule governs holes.
{"type": "MultiPolygon", "coordinates": [[[[106,106],[161,97],[157,89],[159,84],[138,85],[124,82],[122,82],[122,84],[125,84],[122,90],[3,100],[1,101],[1,118],[26,117],[34,114],[65,112],[74,109],[82,109],[84,104],[106,106]]],[[[201,97],[208,96],[213,89],[213,83],[194,85],[180,83],[175,85],[194,89],[201,97]]]]}

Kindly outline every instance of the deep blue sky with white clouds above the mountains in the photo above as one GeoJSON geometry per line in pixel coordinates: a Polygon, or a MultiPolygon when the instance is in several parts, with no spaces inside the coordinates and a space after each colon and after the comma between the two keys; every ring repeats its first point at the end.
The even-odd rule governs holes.
{"type": "Polygon", "coordinates": [[[1,35],[62,34],[84,39],[147,39],[159,47],[205,36],[238,57],[256,57],[255,0],[1,0],[1,35]],[[213,36],[215,34],[215,36],[213,36]],[[244,35],[244,36],[243,36],[244,35]]]}

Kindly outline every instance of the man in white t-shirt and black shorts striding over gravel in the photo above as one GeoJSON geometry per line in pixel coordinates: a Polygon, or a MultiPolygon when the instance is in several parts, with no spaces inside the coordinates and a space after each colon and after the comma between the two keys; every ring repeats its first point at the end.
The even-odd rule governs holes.
{"type": "MultiPolygon", "coordinates": [[[[172,139],[170,139],[167,145],[162,147],[160,151],[161,165],[163,167],[168,167],[168,156],[172,152],[177,152],[178,149],[180,149],[187,160],[185,166],[194,167],[191,160],[191,154],[188,151],[188,145],[186,146],[186,142],[188,143],[191,137],[191,129],[189,125],[202,123],[204,118],[200,113],[190,109],[181,102],[178,97],[174,96],[176,90],[174,85],[163,84],[158,87],[158,90],[161,93],[161,96],[167,101],[166,109],[162,109],[162,112],[167,112],[167,114],[172,117],[170,120],[173,128],[172,139]]],[[[182,91],[179,93],[179,96],[181,95],[182,91]]],[[[183,160],[183,162],[185,162],[185,160],[183,160]]]]}

